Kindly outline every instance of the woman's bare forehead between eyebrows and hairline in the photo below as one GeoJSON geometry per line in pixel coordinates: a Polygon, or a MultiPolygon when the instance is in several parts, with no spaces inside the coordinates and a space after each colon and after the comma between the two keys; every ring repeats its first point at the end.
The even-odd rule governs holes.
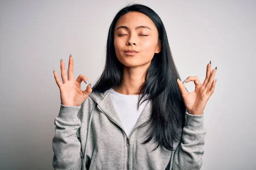
{"type": "Polygon", "coordinates": [[[148,26],[151,30],[157,30],[153,21],[147,15],[136,11],[128,12],[120,17],[116,22],[115,30],[118,26],[127,26],[130,29],[137,26],[148,26]]]}

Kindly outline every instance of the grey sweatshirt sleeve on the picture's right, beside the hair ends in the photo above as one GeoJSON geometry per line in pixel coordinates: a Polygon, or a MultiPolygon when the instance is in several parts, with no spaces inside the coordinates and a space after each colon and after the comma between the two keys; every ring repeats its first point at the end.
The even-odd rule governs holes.
{"type": "Polygon", "coordinates": [[[204,113],[192,115],[186,111],[186,125],[182,130],[180,144],[177,146],[172,170],[200,170],[204,154],[204,113]]]}

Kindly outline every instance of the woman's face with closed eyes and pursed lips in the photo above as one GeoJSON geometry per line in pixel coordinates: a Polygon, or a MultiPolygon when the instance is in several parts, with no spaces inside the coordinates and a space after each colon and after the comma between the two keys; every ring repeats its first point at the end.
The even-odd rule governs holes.
{"type": "Polygon", "coordinates": [[[149,66],[154,54],[161,51],[156,26],[140,12],[128,12],[119,18],[114,31],[114,46],[117,59],[127,67],[149,66]]]}

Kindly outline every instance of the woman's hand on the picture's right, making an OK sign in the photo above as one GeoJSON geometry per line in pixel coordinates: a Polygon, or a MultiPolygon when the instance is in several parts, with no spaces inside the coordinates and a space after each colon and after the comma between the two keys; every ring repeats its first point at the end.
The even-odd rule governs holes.
{"type": "Polygon", "coordinates": [[[207,64],[206,78],[204,79],[204,83],[202,85],[197,76],[188,77],[185,79],[186,81],[184,80],[184,82],[193,81],[195,83],[195,91],[190,93],[186,91],[186,87],[183,84],[184,82],[180,81],[180,79],[177,79],[182,97],[184,99],[186,110],[189,112],[189,114],[203,114],[207,101],[214,92],[216,79],[213,79],[215,77],[216,69],[217,67],[211,71],[210,63],[207,64]]]}

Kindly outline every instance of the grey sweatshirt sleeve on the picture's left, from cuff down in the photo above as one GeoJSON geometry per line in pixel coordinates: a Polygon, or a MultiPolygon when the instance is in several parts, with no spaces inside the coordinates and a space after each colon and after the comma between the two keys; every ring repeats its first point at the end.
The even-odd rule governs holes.
{"type": "Polygon", "coordinates": [[[78,117],[81,111],[81,106],[61,104],[58,116],[55,117],[55,136],[52,139],[52,166],[55,170],[81,170],[81,141],[76,135],[81,127],[81,118],[78,117]]]}

